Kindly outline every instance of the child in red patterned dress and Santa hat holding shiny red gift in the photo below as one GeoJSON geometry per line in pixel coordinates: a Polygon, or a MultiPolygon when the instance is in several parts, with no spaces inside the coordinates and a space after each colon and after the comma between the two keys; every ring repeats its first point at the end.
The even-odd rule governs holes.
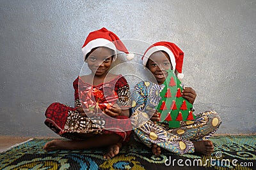
{"type": "Polygon", "coordinates": [[[122,143],[129,140],[131,93],[122,75],[109,73],[116,60],[116,49],[127,53],[120,39],[106,28],[90,32],[82,47],[84,61],[91,73],[74,81],[75,108],[52,103],[45,111],[45,125],[60,136],[44,149],[83,150],[108,146],[104,158],[118,154],[122,143]]]}

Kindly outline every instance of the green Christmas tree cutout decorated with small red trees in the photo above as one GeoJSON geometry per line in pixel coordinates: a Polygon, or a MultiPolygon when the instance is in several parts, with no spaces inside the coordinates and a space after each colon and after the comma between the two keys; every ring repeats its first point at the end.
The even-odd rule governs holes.
{"type": "Polygon", "coordinates": [[[174,128],[180,127],[180,121],[195,120],[195,115],[191,111],[193,105],[182,97],[181,82],[172,70],[168,70],[168,76],[163,84],[161,101],[157,106],[157,111],[161,113],[160,122],[168,122],[169,127],[174,128]]]}

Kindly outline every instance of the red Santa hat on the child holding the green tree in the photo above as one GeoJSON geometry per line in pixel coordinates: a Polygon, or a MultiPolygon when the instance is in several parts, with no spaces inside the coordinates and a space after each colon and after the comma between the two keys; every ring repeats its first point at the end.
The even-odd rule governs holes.
{"type": "Polygon", "coordinates": [[[157,51],[164,51],[168,53],[170,60],[172,62],[172,67],[173,69],[175,68],[178,71],[179,74],[177,75],[177,77],[181,80],[184,77],[184,74],[182,74],[184,53],[174,43],[160,41],[149,46],[142,57],[143,66],[146,66],[150,55],[157,51]]]}

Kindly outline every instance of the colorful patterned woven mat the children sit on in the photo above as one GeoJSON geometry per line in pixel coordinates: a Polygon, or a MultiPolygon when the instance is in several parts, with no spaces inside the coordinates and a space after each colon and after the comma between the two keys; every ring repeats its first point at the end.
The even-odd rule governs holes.
{"type": "Polygon", "coordinates": [[[212,155],[180,155],[162,150],[159,157],[155,157],[147,146],[131,139],[109,160],[103,158],[106,152],[103,148],[45,152],[43,146],[51,140],[33,139],[0,153],[0,169],[249,170],[256,166],[256,136],[212,136],[212,155]]]}

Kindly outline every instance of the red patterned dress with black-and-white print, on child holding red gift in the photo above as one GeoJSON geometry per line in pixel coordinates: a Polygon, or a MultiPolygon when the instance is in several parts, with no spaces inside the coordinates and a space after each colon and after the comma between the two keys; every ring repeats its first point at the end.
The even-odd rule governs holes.
{"type": "Polygon", "coordinates": [[[45,111],[45,125],[60,136],[68,139],[86,139],[98,134],[115,133],[122,137],[122,141],[129,140],[132,125],[128,117],[109,118],[101,112],[88,118],[76,110],[76,107],[82,106],[82,104],[84,104],[83,108],[88,104],[92,104],[93,100],[90,97],[92,95],[94,95],[93,97],[99,96],[99,94],[98,106],[117,103],[120,107],[130,108],[131,92],[127,81],[122,75],[118,75],[113,80],[97,86],[84,83],[78,76],[73,82],[73,87],[75,90],[75,108],[61,103],[52,103],[45,111]],[[83,98],[83,100],[79,99],[79,97],[83,98]],[[129,129],[130,131],[125,131],[124,129],[129,129]]]}

